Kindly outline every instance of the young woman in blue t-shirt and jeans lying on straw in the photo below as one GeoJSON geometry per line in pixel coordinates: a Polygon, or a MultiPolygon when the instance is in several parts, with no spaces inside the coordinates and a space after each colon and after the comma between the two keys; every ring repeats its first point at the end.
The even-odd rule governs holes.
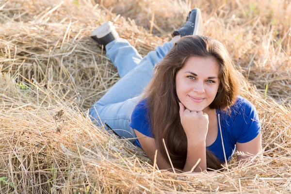
{"type": "Polygon", "coordinates": [[[261,150],[257,111],[238,96],[237,71],[226,48],[201,35],[202,28],[194,8],[171,42],[144,58],[118,37],[111,22],[91,34],[121,77],[92,106],[92,120],[106,122],[121,137],[137,137],[130,141],[151,161],[158,150],[159,169],[171,169],[172,162],[187,172],[199,160],[195,172],[219,169],[235,149],[261,150]]]}

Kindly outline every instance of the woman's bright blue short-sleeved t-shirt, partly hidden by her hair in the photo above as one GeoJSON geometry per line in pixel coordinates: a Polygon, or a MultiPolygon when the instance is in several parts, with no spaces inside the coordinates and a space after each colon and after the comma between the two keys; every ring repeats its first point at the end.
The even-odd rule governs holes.
{"type": "MultiPolygon", "coordinates": [[[[153,138],[150,122],[147,119],[146,99],[141,100],[131,114],[130,127],[140,133],[153,138]]],[[[238,96],[234,105],[230,106],[230,114],[216,109],[218,133],[215,142],[207,146],[218,159],[225,162],[222,140],[219,128],[218,114],[220,114],[220,125],[227,161],[235,152],[236,143],[246,143],[257,137],[260,132],[259,116],[254,105],[245,98],[238,96]]],[[[135,144],[141,147],[138,139],[135,144]]]]}

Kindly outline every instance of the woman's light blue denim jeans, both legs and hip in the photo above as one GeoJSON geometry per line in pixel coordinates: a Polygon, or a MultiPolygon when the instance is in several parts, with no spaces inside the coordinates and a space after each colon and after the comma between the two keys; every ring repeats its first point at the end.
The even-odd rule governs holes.
{"type": "Polygon", "coordinates": [[[154,66],[172,47],[172,43],[164,43],[142,58],[126,39],[118,38],[107,44],[106,57],[113,62],[121,79],[91,107],[91,120],[97,126],[107,123],[115,133],[126,139],[136,137],[129,127],[131,113],[153,76],[154,66]]]}

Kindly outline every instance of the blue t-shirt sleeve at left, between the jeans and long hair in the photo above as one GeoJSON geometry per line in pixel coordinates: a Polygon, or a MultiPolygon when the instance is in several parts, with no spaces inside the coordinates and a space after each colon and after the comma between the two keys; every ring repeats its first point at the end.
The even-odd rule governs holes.
{"type": "Polygon", "coordinates": [[[129,127],[139,131],[140,133],[148,136],[153,137],[151,133],[151,129],[149,127],[149,121],[147,119],[147,106],[146,106],[146,100],[143,99],[140,101],[134,108],[129,127]]]}

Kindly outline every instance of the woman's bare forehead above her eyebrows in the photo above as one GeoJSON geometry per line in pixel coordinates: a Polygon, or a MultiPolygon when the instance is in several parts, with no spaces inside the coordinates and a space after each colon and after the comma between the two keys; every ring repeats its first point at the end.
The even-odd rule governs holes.
{"type": "Polygon", "coordinates": [[[191,71],[198,76],[218,76],[219,64],[213,57],[189,57],[184,67],[180,70],[181,73],[191,71]]]}

